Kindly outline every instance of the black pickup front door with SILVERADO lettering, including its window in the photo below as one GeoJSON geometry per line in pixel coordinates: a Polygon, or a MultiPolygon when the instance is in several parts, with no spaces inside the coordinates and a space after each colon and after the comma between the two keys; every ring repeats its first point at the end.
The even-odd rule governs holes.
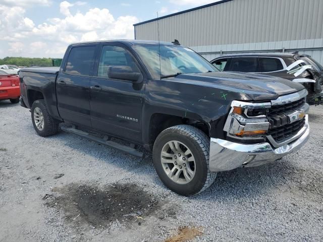
{"type": "Polygon", "coordinates": [[[121,44],[101,46],[99,61],[90,81],[91,123],[95,130],[141,141],[143,82],[109,78],[111,67],[141,72],[132,54],[121,44]]]}

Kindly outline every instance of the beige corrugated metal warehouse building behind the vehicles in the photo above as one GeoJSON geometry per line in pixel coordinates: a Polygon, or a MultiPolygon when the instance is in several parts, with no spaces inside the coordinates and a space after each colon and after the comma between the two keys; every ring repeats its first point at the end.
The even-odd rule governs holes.
{"type": "Polygon", "coordinates": [[[178,39],[207,59],[239,52],[294,52],[323,64],[323,0],[224,0],[148,20],[135,39],[178,39]]]}

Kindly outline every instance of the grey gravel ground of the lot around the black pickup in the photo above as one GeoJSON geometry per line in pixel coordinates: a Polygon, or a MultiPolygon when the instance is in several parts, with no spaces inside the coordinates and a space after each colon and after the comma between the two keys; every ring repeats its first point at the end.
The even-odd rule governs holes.
{"type": "Polygon", "coordinates": [[[150,157],[63,132],[41,138],[27,109],[2,101],[0,241],[165,241],[183,226],[203,231],[193,241],[322,241],[322,106],[309,116],[300,151],[219,173],[186,198],[161,183],[150,157]]]}

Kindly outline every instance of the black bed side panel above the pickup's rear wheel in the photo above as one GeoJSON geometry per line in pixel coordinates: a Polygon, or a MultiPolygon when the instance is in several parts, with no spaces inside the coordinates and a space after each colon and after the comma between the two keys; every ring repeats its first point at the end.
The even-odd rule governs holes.
{"type": "Polygon", "coordinates": [[[20,72],[21,95],[28,108],[33,102],[33,93],[38,91],[42,94],[49,114],[61,120],[57,109],[56,78],[58,73],[45,72],[20,72]]]}

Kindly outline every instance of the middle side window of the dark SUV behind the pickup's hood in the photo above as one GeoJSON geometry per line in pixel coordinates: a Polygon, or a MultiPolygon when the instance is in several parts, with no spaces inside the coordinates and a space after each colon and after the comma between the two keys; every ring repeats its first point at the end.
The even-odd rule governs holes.
{"type": "Polygon", "coordinates": [[[233,57],[230,68],[232,72],[260,72],[258,57],[233,57]]]}

